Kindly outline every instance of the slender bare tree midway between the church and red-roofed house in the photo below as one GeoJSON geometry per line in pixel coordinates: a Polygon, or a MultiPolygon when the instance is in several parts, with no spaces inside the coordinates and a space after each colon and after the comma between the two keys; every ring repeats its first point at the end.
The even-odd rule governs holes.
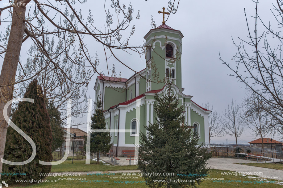
{"type": "Polygon", "coordinates": [[[227,111],[225,110],[223,113],[222,124],[224,131],[235,137],[236,145],[238,146],[238,138],[243,133],[244,128],[241,109],[236,101],[232,100],[231,104],[228,105],[227,111]]]}

